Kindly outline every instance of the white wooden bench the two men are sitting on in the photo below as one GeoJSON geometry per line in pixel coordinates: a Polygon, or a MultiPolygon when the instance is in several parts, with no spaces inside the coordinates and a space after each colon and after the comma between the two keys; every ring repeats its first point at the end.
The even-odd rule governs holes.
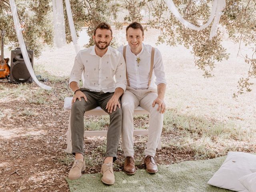
{"type": "MultiPolygon", "coordinates": [[[[64,111],[70,112],[70,116],[69,116],[69,121],[68,121],[68,131],[66,133],[67,139],[66,139],[66,144],[67,144],[67,149],[66,152],[67,153],[72,153],[72,141],[71,141],[71,128],[70,128],[70,118],[71,118],[71,101],[72,101],[72,97],[66,97],[64,99],[64,111]]],[[[138,106],[135,110],[134,110],[134,115],[142,115],[142,114],[149,114],[149,112],[147,112],[146,110],[144,110],[143,108],[141,108],[140,106],[138,106]]],[[[84,113],[84,116],[88,116],[88,115],[94,115],[94,116],[98,116],[98,115],[108,115],[104,110],[102,110],[102,108],[100,107],[96,107],[93,110],[90,111],[86,111],[84,113]]],[[[84,137],[91,137],[91,136],[106,136],[107,135],[107,130],[104,131],[84,131],[84,137]]],[[[133,135],[148,135],[148,130],[134,130],[133,135]]],[[[161,149],[161,140],[158,143],[158,149],[161,149]]]]}

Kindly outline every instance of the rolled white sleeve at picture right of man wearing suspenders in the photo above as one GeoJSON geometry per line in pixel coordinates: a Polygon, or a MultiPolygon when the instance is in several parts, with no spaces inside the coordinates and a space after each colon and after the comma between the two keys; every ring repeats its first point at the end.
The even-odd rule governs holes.
{"type": "Polygon", "coordinates": [[[158,85],[160,83],[167,84],[164,73],[164,64],[162,60],[162,55],[160,51],[155,48],[155,64],[154,64],[154,75],[156,77],[155,84],[158,85]]]}

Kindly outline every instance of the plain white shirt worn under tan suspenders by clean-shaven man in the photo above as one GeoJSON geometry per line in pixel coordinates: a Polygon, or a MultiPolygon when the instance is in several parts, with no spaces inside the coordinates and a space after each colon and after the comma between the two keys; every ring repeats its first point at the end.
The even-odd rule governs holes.
{"type": "MultiPolygon", "coordinates": [[[[120,46],[118,51],[123,54],[124,46],[120,46]]],[[[128,72],[128,80],[130,86],[134,89],[147,89],[156,88],[160,83],[166,83],[164,74],[164,65],[160,51],[155,48],[154,54],[154,68],[152,72],[152,80],[148,87],[150,61],[151,61],[151,48],[150,45],[142,44],[142,50],[138,55],[132,53],[129,45],[126,47],[126,70],[128,72]],[[137,60],[140,58],[138,64],[137,60]]]]}

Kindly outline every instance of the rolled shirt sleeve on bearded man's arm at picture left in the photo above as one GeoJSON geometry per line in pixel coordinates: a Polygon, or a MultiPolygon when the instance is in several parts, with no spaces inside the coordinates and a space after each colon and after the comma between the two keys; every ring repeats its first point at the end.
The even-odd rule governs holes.
{"type": "Polygon", "coordinates": [[[70,73],[69,85],[72,81],[77,82],[79,84],[79,80],[82,77],[83,71],[84,71],[84,65],[82,64],[82,60],[81,60],[81,52],[78,52],[74,61],[74,66],[70,73]]]}

